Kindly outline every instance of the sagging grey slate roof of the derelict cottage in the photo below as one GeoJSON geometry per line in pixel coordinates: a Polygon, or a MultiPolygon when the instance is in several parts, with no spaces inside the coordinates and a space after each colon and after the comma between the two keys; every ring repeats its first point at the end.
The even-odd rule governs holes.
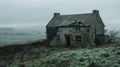
{"type": "Polygon", "coordinates": [[[90,21],[93,22],[94,18],[95,15],[93,15],[93,13],[58,15],[53,17],[53,19],[48,23],[47,27],[68,26],[76,21],[87,24],[90,21]]]}

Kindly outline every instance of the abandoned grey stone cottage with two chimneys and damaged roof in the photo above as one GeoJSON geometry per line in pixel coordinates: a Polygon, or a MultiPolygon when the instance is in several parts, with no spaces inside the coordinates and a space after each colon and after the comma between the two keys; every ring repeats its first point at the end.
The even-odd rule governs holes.
{"type": "Polygon", "coordinates": [[[86,47],[104,42],[104,27],[98,10],[70,15],[54,13],[46,33],[49,45],[86,47]]]}

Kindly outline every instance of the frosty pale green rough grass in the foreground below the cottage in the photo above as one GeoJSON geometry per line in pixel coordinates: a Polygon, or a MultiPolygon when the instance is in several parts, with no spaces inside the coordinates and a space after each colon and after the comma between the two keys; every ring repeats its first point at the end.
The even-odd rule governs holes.
{"type": "MultiPolygon", "coordinates": [[[[16,54],[11,67],[120,67],[120,46],[99,48],[47,48],[40,47],[32,50],[33,53],[25,54],[37,57],[21,61],[20,54],[16,54]]],[[[29,53],[29,52],[28,52],[29,53]]]]}

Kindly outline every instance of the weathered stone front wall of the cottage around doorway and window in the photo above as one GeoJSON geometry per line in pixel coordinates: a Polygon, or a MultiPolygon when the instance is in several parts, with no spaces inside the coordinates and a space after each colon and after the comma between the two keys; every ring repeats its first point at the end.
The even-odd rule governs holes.
{"type": "Polygon", "coordinates": [[[80,28],[76,31],[74,27],[59,28],[57,36],[60,36],[59,39],[57,36],[51,41],[50,45],[59,45],[66,46],[67,42],[65,39],[65,34],[70,35],[71,46],[90,46],[93,44],[94,39],[91,36],[91,32],[88,31],[89,28],[80,28]],[[82,42],[77,44],[75,36],[81,36],[82,42]]]}

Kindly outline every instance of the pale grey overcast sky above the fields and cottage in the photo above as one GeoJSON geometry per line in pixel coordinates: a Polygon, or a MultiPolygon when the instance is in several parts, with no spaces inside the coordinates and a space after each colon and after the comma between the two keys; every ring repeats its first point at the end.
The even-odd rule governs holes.
{"type": "Polygon", "coordinates": [[[107,29],[120,28],[120,0],[0,0],[0,27],[46,25],[54,12],[90,13],[97,9],[107,29]]]}

